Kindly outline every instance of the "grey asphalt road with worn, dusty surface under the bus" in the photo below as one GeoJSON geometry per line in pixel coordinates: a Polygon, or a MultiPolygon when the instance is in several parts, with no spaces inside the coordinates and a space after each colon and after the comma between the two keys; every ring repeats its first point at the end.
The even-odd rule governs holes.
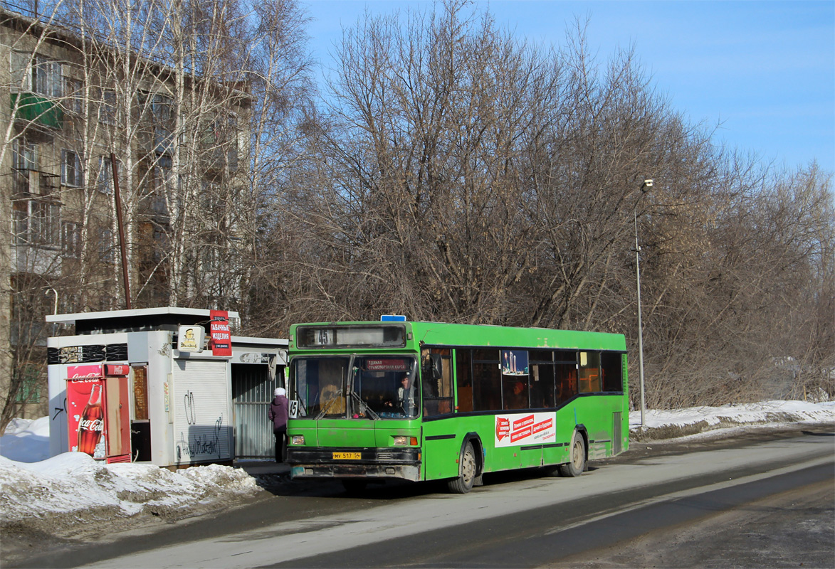
{"type": "Polygon", "coordinates": [[[835,566],[835,433],[635,445],[575,479],[277,484],[210,520],[31,558],[31,566],[835,566]]]}

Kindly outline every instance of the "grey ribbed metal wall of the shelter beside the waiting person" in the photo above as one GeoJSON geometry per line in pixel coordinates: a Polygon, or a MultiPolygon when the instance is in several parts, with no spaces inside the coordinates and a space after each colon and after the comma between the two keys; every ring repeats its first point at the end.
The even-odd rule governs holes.
{"type": "Polygon", "coordinates": [[[267,412],[277,386],[278,382],[270,379],[268,365],[232,365],[236,458],[275,458],[275,438],[267,412]]]}

